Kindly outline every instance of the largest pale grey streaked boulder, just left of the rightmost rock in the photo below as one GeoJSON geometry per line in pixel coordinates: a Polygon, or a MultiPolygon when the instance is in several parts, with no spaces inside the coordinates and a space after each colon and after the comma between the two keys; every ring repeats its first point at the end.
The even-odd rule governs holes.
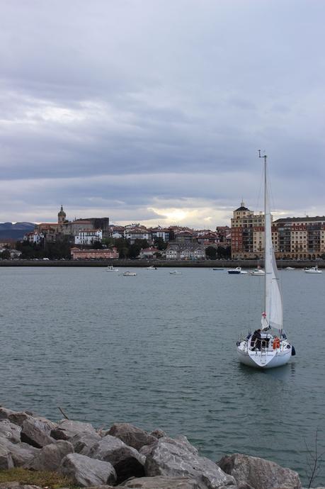
{"type": "Polygon", "coordinates": [[[188,442],[167,437],[160,438],[152,445],[144,470],[148,477],[192,478],[200,489],[216,489],[221,485],[236,484],[234,478],[224,473],[215,463],[199,456],[194,446],[189,448],[188,442]]]}

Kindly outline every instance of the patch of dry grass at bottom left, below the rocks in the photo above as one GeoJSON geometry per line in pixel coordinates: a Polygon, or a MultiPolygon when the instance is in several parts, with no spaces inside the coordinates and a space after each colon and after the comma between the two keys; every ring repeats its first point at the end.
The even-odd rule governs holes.
{"type": "Polygon", "coordinates": [[[6,482],[18,482],[26,485],[39,485],[41,488],[75,488],[69,477],[50,471],[28,471],[26,468],[9,468],[0,471],[0,484],[6,482]]]}

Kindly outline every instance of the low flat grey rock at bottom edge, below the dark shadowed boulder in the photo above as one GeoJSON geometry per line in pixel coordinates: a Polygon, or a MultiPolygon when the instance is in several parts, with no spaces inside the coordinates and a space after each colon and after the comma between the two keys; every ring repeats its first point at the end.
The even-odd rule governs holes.
{"type": "Polygon", "coordinates": [[[141,477],[125,480],[121,484],[123,488],[139,489],[199,489],[196,480],[188,477],[141,477]]]}

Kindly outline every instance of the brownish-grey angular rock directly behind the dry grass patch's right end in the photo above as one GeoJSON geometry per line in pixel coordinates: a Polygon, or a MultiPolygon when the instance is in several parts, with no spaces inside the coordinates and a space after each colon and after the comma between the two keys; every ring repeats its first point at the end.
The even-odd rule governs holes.
{"type": "Polygon", "coordinates": [[[62,459],[73,452],[74,447],[71,443],[59,440],[40,449],[38,454],[25,464],[25,468],[30,468],[34,471],[56,471],[62,459]]]}

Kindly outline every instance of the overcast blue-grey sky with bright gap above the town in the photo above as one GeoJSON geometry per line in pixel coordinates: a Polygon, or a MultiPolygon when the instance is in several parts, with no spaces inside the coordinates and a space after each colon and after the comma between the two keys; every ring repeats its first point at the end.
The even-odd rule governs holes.
{"type": "Polygon", "coordinates": [[[325,214],[324,0],[0,0],[0,221],[325,214]]]}

